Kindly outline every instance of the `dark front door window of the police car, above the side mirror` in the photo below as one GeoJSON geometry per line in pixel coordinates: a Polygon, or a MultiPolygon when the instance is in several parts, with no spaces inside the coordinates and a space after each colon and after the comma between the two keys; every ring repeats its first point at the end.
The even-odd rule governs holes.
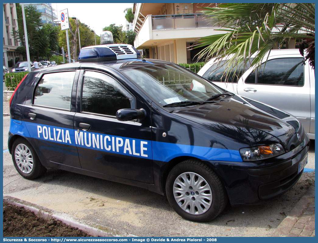
{"type": "Polygon", "coordinates": [[[86,71],[82,90],[84,112],[115,116],[117,110],[131,108],[129,98],[132,96],[114,78],[104,73],[86,71]]]}

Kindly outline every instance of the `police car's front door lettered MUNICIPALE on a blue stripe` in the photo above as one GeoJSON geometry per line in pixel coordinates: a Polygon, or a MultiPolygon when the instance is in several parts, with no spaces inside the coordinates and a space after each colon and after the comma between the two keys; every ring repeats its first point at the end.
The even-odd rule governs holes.
{"type": "Polygon", "coordinates": [[[153,183],[150,108],[105,72],[83,70],[74,118],[83,169],[153,183]],[[142,121],[118,121],[122,108],[144,108],[142,121]]]}

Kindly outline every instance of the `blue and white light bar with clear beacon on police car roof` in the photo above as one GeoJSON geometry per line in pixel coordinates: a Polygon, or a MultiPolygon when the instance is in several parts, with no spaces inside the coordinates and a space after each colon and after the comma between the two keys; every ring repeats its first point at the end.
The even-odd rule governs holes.
{"type": "Polygon", "coordinates": [[[79,52],[79,62],[136,58],[141,58],[140,52],[132,45],[114,44],[113,34],[110,31],[101,32],[100,45],[86,46],[79,52]]]}

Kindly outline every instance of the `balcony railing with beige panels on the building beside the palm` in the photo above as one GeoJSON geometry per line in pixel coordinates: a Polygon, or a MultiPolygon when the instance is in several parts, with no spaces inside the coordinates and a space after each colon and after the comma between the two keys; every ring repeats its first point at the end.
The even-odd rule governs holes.
{"type": "Polygon", "coordinates": [[[154,15],[152,30],[219,27],[218,23],[207,21],[201,14],[154,15]]]}

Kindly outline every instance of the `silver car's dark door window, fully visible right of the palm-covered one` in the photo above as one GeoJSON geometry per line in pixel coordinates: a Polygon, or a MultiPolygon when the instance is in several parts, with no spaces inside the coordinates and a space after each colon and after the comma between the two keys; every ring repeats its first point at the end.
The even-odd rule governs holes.
{"type": "Polygon", "coordinates": [[[245,80],[249,84],[304,85],[303,58],[280,58],[267,61],[245,80]],[[257,73],[257,75],[255,75],[257,73]]]}

